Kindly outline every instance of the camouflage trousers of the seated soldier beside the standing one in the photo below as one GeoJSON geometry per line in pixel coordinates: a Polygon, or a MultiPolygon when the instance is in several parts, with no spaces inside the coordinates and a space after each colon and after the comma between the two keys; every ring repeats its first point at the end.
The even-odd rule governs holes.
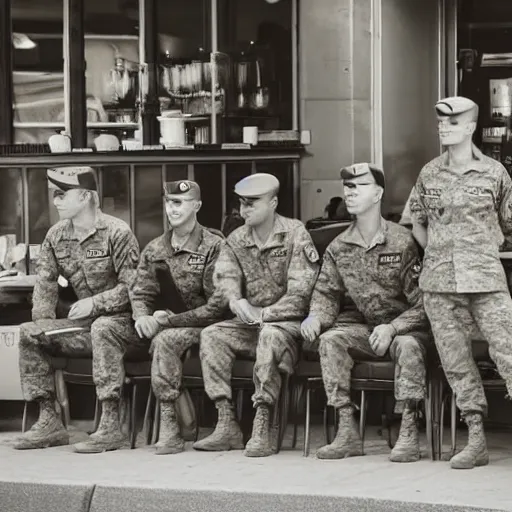
{"type": "MultiPolygon", "coordinates": [[[[368,341],[372,329],[365,324],[336,323],[320,336],[318,351],[327,403],[337,409],[351,404],[350,378],[354,360],[382,361],[368,341]]],[[[428,333],[395,336],[389,357],[395,363],[395,398],[422,400],[426,393],[428,333]]],[[[388,359],[389,360],[389,359],[388,359]]]]}

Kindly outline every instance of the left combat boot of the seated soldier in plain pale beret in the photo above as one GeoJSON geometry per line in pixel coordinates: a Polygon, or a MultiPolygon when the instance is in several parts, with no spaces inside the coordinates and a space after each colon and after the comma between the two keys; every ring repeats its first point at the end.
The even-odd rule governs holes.
{"type": "Polygon", "coordinates": [[[196,441],[194,450],[206,452],[221,452],[227,450],[243,450],[244,442],[242,431],[235,419],[233,405],[229,400],[218,400],[215,403],[218,419],[215,430],[211,435],[196,441]]]}

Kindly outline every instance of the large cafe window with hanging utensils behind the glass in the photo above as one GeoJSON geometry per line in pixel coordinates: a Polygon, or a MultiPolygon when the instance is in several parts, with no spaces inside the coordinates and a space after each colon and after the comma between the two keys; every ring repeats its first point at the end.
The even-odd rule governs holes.
{"type": "Polygon", "coordinates": [[[244,126],[260,140],[298,129],[298,0],[87,0],[83,35],[69,41],[73,2],[10,1],[15,143],[71,130],[73,37],[83,37],[87,128],[73,147],[239,143],[244,126]]]}

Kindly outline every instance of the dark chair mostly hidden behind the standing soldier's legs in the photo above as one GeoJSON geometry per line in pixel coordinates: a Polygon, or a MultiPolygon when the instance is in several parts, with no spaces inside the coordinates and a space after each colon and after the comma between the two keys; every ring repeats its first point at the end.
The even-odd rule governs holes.
{"type": "MultiPolygon", "coordinates": [[[[494,367],[485,368],[486,364],[490,363],[489,345],[484,340],[473,340],[472,342],[473,359],[476,361],[481,372],[490,370],[489,373],[494,374],[490,379],[482,378],[482,384],[485,391],[504,391],[506,393],[507,386],[505,380],[499,377],[494,367]],[[498,378],[496,378],[496,376],[498,378]]],[[[440,371],[442,369],[440,368],[440,371]]],[[[446,378],[440,381],[439,386],[439,408],[440,408],[440,430],[438,440],[439,456],[442,456],[443,448],[443,426],[444,426],[444,413],[447,401],[450,401],[450,457],[455,455],[457,449],[457,404],[456,395],[451,391],[446,378]]]]}

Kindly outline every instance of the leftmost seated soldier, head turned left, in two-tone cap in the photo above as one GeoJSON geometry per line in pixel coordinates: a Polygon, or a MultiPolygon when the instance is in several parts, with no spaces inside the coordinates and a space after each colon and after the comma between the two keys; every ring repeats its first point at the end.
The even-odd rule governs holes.
{"type": "Polygon", "coordinates": [[[126,223],[98,208],[96,179],[90,167],[50,169],[48,181],[61,220],[43,241],[33,321],[21,325],[19,344],[23,394],[25,400],[39,403],[40,415],[15,448],[69,443],[55,409],[50,356],[92,354],[102,415],[98,430],[88,442],[75,445],[75,451],[114,450],[126,441],[119,423],[123,356],[129,347],[141,347],[142,343],[133,329],[128,298],[139,247],[126,223]],[[60,278],[68,281],[78,297],[65,319],[56,318],[60,278]],[[86,329],[69,331],[76,327],[86,329]]]}

